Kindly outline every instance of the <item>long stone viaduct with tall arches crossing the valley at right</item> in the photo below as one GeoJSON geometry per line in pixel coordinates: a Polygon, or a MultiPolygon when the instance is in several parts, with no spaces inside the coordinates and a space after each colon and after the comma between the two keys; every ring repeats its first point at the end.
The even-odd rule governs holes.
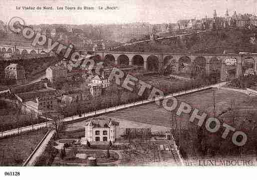
{"type": "Polygon", "coordinates": [[[132,66],[135,64],[135,57],[140,59],[142,66],[148,69],[149,58],[154,59],[158,65],[158,71],[165,69],[166,65],[172,63],[175,67],[175,71],[179,72],[179,66],[181,64],[181,58],[188,59],[189,67],[193,67],[198,61],[203,61],[204,69],[206,73],[210,73],[211,66],[219,64],[220,67],[220,79],[224,80],[225,65],[227,65],[227,59],[234,59],[235,61],[235,77],[239,77],[242,73],[242,66],[245,60],[252,60],[254,72],[257,71],[257,54],[173,54],[173,53],[146,53],[146,52],[96,52],[101,60],[106,60],[111,57],[115,64],[120,64],[119,58],[121,56],[126,57],[127,64],[132,66]]]}

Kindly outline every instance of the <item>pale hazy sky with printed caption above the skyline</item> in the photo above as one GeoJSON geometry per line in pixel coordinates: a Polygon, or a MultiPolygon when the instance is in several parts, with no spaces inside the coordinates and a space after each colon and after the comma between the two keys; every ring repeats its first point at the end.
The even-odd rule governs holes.
{"type": "Polygon", "coordinates": [[[226,8],[231,16],[237,13],[255,14],[257,0],[1,0],[0,19],[9,22],[20,17],[28,25],[37,24],[150,24],[176,23],[180,19],[201,19],[224,16],[226,8]],[[54,10],[23,10],[22,7],[53,7],[54,10]],[[57,10],[57,7],[75,7],[76,10],[57,10]],[[77,7],[94,10],[77,10],[77,7]],[[118,7],[117,10],[99,10],[118,7]],[[20,10],[18,8],[21,7],[20,10]]]}

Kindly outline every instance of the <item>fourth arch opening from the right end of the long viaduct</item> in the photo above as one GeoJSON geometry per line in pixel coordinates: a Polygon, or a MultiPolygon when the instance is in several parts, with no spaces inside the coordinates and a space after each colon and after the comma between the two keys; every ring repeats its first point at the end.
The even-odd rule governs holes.
{"type": "Polygon", "coordinates": [[[197,56],[192,63],[192,75],[197,76],[199,73],[206,72],[207,60],[203,56],[197,56]]]}

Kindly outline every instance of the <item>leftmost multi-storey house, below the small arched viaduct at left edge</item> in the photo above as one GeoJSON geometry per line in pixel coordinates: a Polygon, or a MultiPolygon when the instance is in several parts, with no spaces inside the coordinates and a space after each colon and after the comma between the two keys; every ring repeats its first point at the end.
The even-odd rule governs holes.
{"type": "Polygon", "coordinates": [[[25,78],[25,69],[19,64],[10,64],[5,68],[5,77],[7,80],[23,80],[25,78]]]}

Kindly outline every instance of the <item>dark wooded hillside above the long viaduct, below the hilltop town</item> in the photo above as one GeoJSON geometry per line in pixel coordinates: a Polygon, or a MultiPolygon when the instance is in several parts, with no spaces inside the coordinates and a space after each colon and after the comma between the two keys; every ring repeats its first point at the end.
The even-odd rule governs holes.
{"type": "Polygon", "coordinates": [[[193,53],[199,49],[224,46],[222,48],[200,51],[202,53],[223,53],[224,49],[237,52],[257,52],[257,47],[250,43],[255,30],[223,29],[207,31],[200,34],[193,33],[191,36],[166,40],[144,42],[128,47],[121,47],[115,51],[133,52],[158,52],[158,53],[193,53]]]}

